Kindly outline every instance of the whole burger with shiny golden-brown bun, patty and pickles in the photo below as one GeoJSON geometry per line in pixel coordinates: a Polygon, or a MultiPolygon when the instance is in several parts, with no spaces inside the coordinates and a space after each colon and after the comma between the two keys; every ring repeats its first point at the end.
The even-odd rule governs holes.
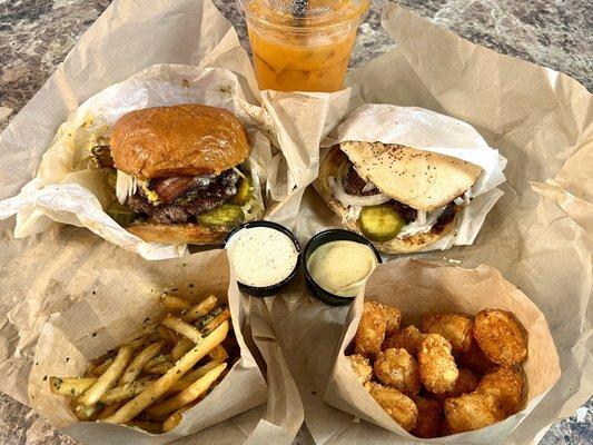
{"type": "Polygon", "coordinates": [[[247,132],[231,112],[197,103],[123,115],[100,167],[117,169],[107,212],[146,241],[218,244],[263,210],[246,165],[247,132]],[[110,156],[109,156],[110,155],[110,156]]]}

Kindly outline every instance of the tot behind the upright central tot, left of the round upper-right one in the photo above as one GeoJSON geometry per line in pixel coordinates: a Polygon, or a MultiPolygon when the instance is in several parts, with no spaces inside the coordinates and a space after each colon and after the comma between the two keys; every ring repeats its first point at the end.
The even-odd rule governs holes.
{"type": "Polygon", "coordinates": [[[454,354],[470,349],[473,326],[472,318],[461,314],[437,314],[422,317],[422,332],[441,334],[451,343],[454,354]]]}

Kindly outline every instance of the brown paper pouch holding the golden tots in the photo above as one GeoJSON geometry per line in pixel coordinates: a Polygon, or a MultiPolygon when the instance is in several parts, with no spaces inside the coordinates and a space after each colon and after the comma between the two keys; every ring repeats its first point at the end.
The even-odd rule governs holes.
{"type": "Polygon", "coordinates": [[[393,421],[367,393],[345,356],[360,322],[365,299],[399,308],[405,326],[419,326],[423,315],[475,315],[482,309],[500,308],[515,314],[528,333],[527,359],[523,364],[526,378],[524,409],[480,431],[423,442],[501,443],[530,415],[560,378],[559,356],[544,315],[525,294],[506,281],[494,268],[485,265],[475,269],[438,267],[413,259],[380,265],[373,273],[366,289],[363,289],[350,305],[324,400],[404,438],[416,439],[393,421]]]}

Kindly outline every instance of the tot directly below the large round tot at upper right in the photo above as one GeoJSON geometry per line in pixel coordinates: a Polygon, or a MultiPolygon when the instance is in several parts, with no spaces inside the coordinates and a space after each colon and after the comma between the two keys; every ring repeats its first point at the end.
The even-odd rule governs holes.
{"type": "Polygon", "coordinates": [[[477,390],[496,397],[506,416],[521,411],[523,404],[523,377],[514,368],[498,368],[486,374],[480,380],[477,390]]]}

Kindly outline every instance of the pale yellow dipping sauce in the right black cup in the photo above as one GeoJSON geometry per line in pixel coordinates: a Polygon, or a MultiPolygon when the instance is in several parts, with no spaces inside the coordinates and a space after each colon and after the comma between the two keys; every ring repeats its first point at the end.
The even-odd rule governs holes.
{"type": "Polygon", "coordinates": [[[307,269],[322,288],[340,297],[354,297],[377,267],[375,253],[364,244],[332,241],[309,255],[307,269]]]}

